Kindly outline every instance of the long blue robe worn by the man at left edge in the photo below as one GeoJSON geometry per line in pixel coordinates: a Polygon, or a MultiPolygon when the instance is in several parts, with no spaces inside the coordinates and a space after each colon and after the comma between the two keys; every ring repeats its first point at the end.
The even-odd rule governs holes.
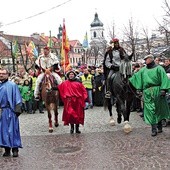
{"type": "Polygon", "coordinates": [[[11,81],[0,83],[0,146],[22,148],[16,105],[22,105],[18,86],[11,81]]]}

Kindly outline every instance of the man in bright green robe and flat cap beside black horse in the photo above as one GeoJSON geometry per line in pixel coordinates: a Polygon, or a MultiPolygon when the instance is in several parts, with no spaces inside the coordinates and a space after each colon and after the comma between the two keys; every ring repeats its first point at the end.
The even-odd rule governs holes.
{"type": "Polygon", "coordinates": [[[144,120],[152,127],[152,136],[162,132],[162,119],[170,117],[166,92],[170,89],[170,81],[164,68],[156,65],[153,55],[144,58],[146,66],[141,68],[130,79],[130,83],[143,92],[144,120]]]}

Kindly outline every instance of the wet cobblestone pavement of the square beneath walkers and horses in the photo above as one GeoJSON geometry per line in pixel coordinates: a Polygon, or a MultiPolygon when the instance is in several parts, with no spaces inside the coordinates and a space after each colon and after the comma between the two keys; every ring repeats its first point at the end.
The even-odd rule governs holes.
{"type": "MultiPolygon", "coordinates": [[[[115,112],[115,111],[114,111],[115,112]]],[[[0,156],[2,170],[169,170],[170,126],[151,137],[150,126],[132,112],[133,131],[125,134],[123,124],[109,125],[102,107],[86,111],[81,134],[69,133],[61,121],[48,132],[47,113],[22,114],[20,130],[23,149],[18,158],[0,156]]],[[[116,120],[116,114],[114,115],[116,120]]],[[[2,155],[2,153],[0,153],[2,155]]]]}

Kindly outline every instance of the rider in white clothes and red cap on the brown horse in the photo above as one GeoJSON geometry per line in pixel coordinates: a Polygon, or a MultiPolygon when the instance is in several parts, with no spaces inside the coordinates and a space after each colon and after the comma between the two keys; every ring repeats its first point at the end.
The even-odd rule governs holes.
{"type": "Polygon", "coordinates": [[[56,80],[56,84],[61,84],[61,77],[55,72],[55,70],[60,70],[60,64],[58,57],[50,52],[49,47],[44,47],[44,53],[40,55],[35,61],[36,69],[39,69],[40,74],[36,80],[36,86],[34,91],[35,99],[39,99],[40,94],[40,83],[43,80],[45,74],[52,73],[56,80]]]}

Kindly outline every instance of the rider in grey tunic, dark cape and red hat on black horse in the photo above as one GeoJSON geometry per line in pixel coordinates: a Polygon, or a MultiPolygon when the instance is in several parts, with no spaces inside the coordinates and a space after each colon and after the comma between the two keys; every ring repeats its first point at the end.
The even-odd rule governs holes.
{"type": "Polygon", "coordinates": [[[119,40],[117,38],[114,38],[111,43],[113,44],[113,47],[108,49],[104,59],[104,70],[106,77],[105,98],[111,97],[110,81],[114,77],[115,73],[119,71],[121,61],[124,60],[126,56],[126,52],[119,45],[119,40]]]}

